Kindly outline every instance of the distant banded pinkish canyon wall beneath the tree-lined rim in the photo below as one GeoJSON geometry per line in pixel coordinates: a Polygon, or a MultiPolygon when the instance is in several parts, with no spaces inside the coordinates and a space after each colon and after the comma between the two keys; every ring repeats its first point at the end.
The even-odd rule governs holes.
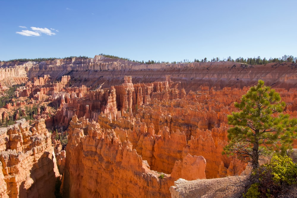
{"type": "Polygon", "coordinates": [[[166,75],[174,82],[180,82],[186,92],[199,86],[243,88],[257,83],[278,88],[296,87],[296,70],[293,63],[270,63],[245,65],[235,62],[206,62],[184,64],[139,64],[131,61],[95,56],[94,58],[56,59],[42,62],[1,62],[1,85],[23,82],[26,77],[49,75],[50,80],[60,80],[70,75],[72,85],[81,84],[92,88],[109,88],[124,83],[124,76],[132,76],[135,83],[164,81],[166,75]],[[17,68],[17,69],[16,69],[17,68]],[[10,78],[7,78],[10,77],[10,78]]]}

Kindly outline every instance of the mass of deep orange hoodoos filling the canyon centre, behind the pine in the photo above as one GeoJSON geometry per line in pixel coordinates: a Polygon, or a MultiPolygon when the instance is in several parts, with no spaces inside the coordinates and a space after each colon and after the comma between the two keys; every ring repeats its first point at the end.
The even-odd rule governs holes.
{"type": "MultiPolygon", "coordinates": [[[[169,76],[154,83],[133,84],[131,77],[124,79],[122,85],[90,91],[89,96],[86,92],[84,99],[92,108],[81,111],[85,117],[79,120],[72,117],[64,196],[170,197],[167,187],[178,178],[219,178],[244,172],[246,164],[221,153],[228,142],[227,115],[236,110],[233,104],[247,87],[219,91],[201,87],[186,94],[169,76]],[[90,109],[97,112],[97,119],[86,119],[90,109]],[[165,178],[159,178],[161,173],[165,178]],[[108,188],[98,187],[103,183],[108,188]]],[[[288,104],[285,111],[295,117],[296,90],[277,91],[288,104]]],[[[61,105],[72,111],[76,100],[68,101],[61,105]]]]}

